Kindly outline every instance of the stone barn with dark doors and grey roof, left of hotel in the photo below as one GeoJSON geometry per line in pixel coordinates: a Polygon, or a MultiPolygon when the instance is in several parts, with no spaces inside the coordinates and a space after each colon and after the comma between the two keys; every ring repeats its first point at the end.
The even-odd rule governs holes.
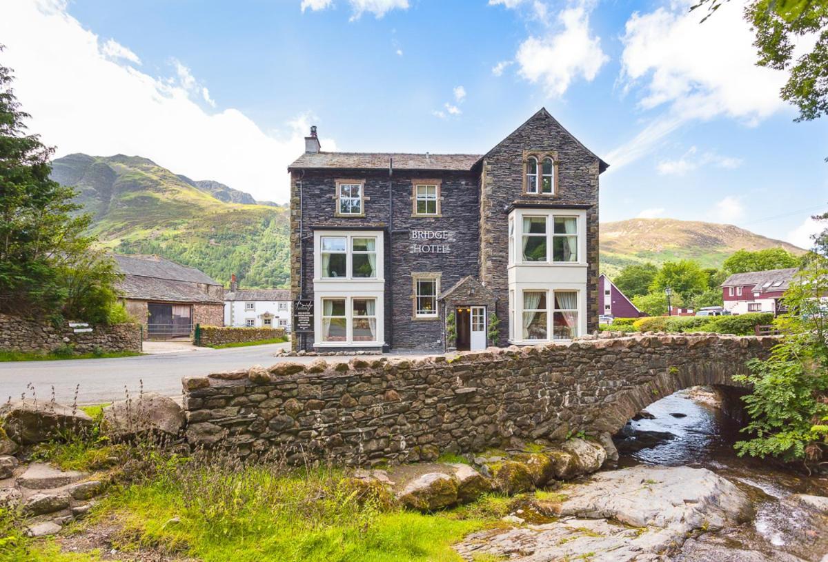
{"type": "Polygon", "coordinates": [[[224,325],[224,286],[195,267],[163,257],[114,255],[118,294],[150,339],[189,337],[195,324],[224,325]]]}

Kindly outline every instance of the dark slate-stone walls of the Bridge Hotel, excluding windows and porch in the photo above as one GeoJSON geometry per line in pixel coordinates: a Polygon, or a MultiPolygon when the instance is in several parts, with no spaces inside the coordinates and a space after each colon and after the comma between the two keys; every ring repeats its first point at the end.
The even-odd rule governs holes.
{"type": "MultiPolygon", "coordinates": [[[[486,155],[436,155],[440,158],[433,160],[433,169],[422,162],[423,158],[428,161],[427,154],[325,154],[318,152],[315,136],[306,141],[310,152],[290,168],[291,293],[294,298],[314,299],[315,296],[315,231],[373,229],[384,240],[382,321],[386,348],[444,350],[450,347],[445,341],[445,311],[450,310],[450,305],[444,305],[436,317],[415,318],[412,274],[416,273],[439,274],[439,291],[445,291],[465,276],[474,276],[496,300],[493,308],[487,308],[489,319],[499,320],[498,335],[489,344],[507,345],[510,322],[508,209],[528,206],[563,209],[562,213],[577,209],[582,214],[578,218],[579,243],[585,240],[585,255],[583,250],[579,251],[579,265],[585,275],[580,281],[572,281],[571,275],[558,279],[557,274],[574,271],[571,266],[575,264],[566,264],[557,270],[556,264],[550,264],[546,287],[526,290],[580,291],[579,298],[585,297],[580,300],[583,303],[579,305],[580,318],[585,315],[587,319],[580,324],[580,334],[597,329],[598,176],[606,164],[561,127],[546,109],[537,112],[486,155]],[[526,193],[524,175],[528,154],[554,158],[555,194],[526,193]],[[317,166],[317,156],[322,160],[330,158],[333,163],[317,166]],[[376,161],[395,157],[392,174],[388,169],[377,169],[376,161]],[[464,169],[457,169],[460,157],[465,158],[464,169]],[[417,158],[420,161],[415,162],[417,158]],[[365,162],[373,162],[370,166],[375,167],[365,162]],[[366,167],[359,167],[361,163],[366,167]],[[446,167],[440,168],[441,165],[446,167]],[[415,167],[421,169],[412,169],[415,167]],[[363,214],[349,217],[337,213],[337,180],[345,179],[364,182],[363,214]],[[422,217],[412,212],[414,180],[439,185],[438,216],[422,217]],[[448,251],[414,252],[412,236],[416,230],[447,233],[449,238],[440,243],[445,243],[448,251]],[[554,286],[559,282],[560,286],[554,286]],[[574,289],[573,285],[578,284],[574,289]]],[[[315,314],[320,315],[320,311],[316,310],[315,314]]],[[[552,317],[551,312],[549,316],[552,317]]],[[[293,349],[314,350],[314,339],[314,334],[297,334],[293,349]]]]}

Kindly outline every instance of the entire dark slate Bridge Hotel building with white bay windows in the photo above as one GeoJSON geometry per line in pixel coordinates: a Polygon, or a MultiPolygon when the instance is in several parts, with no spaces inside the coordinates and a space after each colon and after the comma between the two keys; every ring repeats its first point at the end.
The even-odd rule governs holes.
{"type": "Polygon", "coordinates": [[[479,349],[598,323],[598,176],[542,108],[479,154],[321,151],[291,173],[295,348],[479,349]],[[297,324],[296,330],[299,328],[297,324]]]}

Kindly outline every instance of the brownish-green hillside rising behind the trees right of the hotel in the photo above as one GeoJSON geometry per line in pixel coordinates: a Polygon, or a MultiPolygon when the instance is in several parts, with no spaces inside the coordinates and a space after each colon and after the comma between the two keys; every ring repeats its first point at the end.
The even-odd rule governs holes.
{"type": "Polygon", "coordinates": [[[692,259],[702,267],[720,267],[739,249],[762,250],[782,247],[797,255],[800,247],[766,238],[732,224],[676,219],[628,219],[601,223],[601,271],[613,276],[630,263],[660,264],[692,259]]]}

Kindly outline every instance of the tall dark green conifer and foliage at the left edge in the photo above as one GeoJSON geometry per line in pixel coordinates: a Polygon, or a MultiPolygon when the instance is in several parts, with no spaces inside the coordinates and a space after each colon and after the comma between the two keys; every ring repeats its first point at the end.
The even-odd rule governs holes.
{"type": "Polygon", "coordinates": [[[0,65],[0,312],[104,321],[117,274],[92,252],[75,190],[49,179],[54,149],[26,134],[11,85],[0,65]]]}

